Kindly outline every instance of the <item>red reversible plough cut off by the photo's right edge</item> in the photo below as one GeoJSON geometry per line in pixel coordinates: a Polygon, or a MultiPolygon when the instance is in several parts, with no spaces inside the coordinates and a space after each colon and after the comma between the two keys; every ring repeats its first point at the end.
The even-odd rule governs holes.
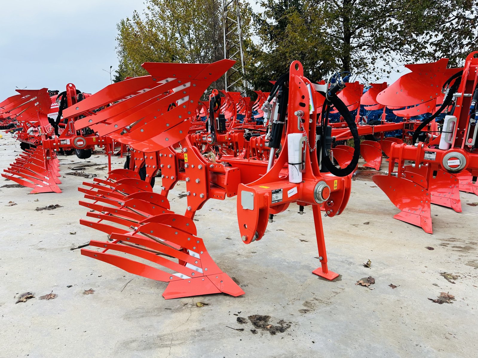
{"type": "Polygon", "coordinates": [[[441,133],[429,131],[416,143],[435,115],[425,120],[413,132],[410,145],[391,143],[387,175],[373,177],[400,209],[394,218],[428,233],[432,233],[430,204],[460,212],[460,190],[478,195],[478,52],[468,55],[464,68],[447,69],[446,65],[447,59],[432,66],[409,65],[412,73],[403,75],[377,96],[383,105],[415,105],[411,111],[435,110],[437,98],[445,97],[435,111],[435,115],[446,114],[441,133]]]}

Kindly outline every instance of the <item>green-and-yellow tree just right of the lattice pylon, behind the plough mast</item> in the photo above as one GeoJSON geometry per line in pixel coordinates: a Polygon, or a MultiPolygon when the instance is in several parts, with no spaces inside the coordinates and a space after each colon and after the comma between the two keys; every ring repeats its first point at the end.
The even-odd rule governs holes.
{"type": "Polygon", "coordinates": [[[269,81],[287,72],[293,60],[300,61],[313,79],[336,67],[336,60],[327,55],[333,49],[320,35],[320,18],[312,11],[312,2],[263,0],[259,4],[263,12],[253,16],[259,43],[250,49],[255,61],[248,68],[253,88],[270,89],[269,81]]]}

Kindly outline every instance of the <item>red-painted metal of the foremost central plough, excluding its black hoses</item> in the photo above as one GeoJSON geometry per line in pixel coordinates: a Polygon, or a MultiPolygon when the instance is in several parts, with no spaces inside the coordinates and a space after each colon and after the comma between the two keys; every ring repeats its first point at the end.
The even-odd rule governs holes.
{"type": "MultiPolygon", "coordinates": [[[[130,273],[168,282],[168,288],[163,294],[165,298],[219,292],[243,294],[239,286],[215,265],[207,254],[202,239],[196,236],[192,218],[208,199],[224,200],[226,197],[238,196],[239,231],[245,243],[262,238],[269,214],[280,214],[293,202],[298,205],[313,205],[317,248],[321,257],[321,267],[314,273],[327,279],[334,279],[338,275],[327,267],[320,210],[322,207],[326,216],[335,216],[344,211],[350,195],[351,176],[337,178],[331,174],[321,174],[316,149],[310,149],[311,145],[309,150],[304,151],[304,181],[293,184],[288,179],[287,134],[303,133],[304,137],[315,138],[320,107],[316,106],[311,115],[305,111],[300,130],[297,120],[290,117],[282,136],[282,151],[272,169],[267,172],[269,148],[266,147],[264,135],[266,128],[257,126],[252,117],[252,110],[264,114],[261,111],[266,100],[265,94],[259,92],[258,99],[251,106],[250,99],[243,98],[238,93],[223,92],[221,112],[228,119],[227,129],[215,132],[213,143],[209,142],[208,132],[200,119],[210,115],[207,113],[208,106],[198,102],[202,92],[194,92],[190,87],[196,84],[196,87],[201,87],[204,91],[214,76],[220,76],[221,71],[224,72],[230,65],[229,62],[211,65],[147,64],[144,67],[152,74],[152,79],[156,78],[157,86],[152,85],[148,91],[135,94],[133,92],[137,92],[141,85],[130,89],[125,84],[113,84],[82,101],[78,109],[70,108],[66,111],[66,116],[86,116],[75,122],[76,129],[91,126],[108,134],[115,141],[130,146],[130,168],[134,169],[112,170],[106,180],[95,178],[94,183],[84,183],[87,188],[79,189],[87,199],[80,201],[80,204],[93,210],[87,216],[95,219],[80,222],[109,233],[112,240],[92,241],[92,246],[103,250],[98,252],[83,249],[82,253],[130,273]],[[206,72],[214,75],[204,76],[206,72]],[[202,77],[207,77],[207,81],[202,81],[202,77]],[[186,93],[176,95],[180,84],[176,81],[179,79],[186,79],[189,85],[185,87],[186,93]],[[201,84],[198,83],[200,79],[203,82],[201,84]],[[189,95],[187,101],[182,102],[186,95],[189,95]],[[118,98],[122,100],[107,109],[93,112],[95,107],[118,98]],[[172,103],[174,105],[170,105],[172,103]],[[190,110],[193,105],[194,112],[190,110]],[[188,109],[190,112],[185,113],[188,109]],[[156,115],[157,118],[148,114],[151,110],[152,113],[160,112],[156,115]],[[179,115],[180,113],[185,115],[179,115]],[[243,123],[237,120],[238,114],[245,116],[243,123]],[[141,123],[136,124],[134,121],[138,117],[142,118],[141,123]],[[187,119],[188,117],[191,118],[187,119]],[[142,124],[143,120],[147,126],[142,124]],[[118,127],[114,127],[115,125],[118,127]],[[140,128],[144,131],[141,132],[140,128]],[[174,132],[174,128],[181,128],[183,133],[174,132]],[[246,128],[254,135],[246,138],[246,128]],[[170,140],[165,140],[166,136],[170,140]],[[138,171],[143,164],[147,171],[146,181],[138,179],[138,171]],[[161,170],[161,194],[152,193],[148,186],[157,170],[161,170]],[[166,199],[169,190],[179,180],[186,184],[185,215],[171,212],[166,199]],[[319,194],[315,188],[319,184],[323,200],[317,199],[319,194]],[[272,203],[271,190],[279,189],[282,190],[283,199],[272,203]],[[254,208],[244,209],[239,204],[242,195],[245,195],[244,191],[254,193],[254,208]],[[253,218],[257,218],[256,225],[250,221],[253,218]],[[120,255],[114,252],[120,252],[120,255]],[[123,256],[124,254],[129,257],[123,256]],[[151,264],[144,261],[138,263],[134,261],[135,256],[148,260],[151,264]],[[173,274],[167,273],[170,270],[173,274]]],[[[128,81],[136,83],[135,79],[124,82],[128,81]]],[[[294,62],[291,65],[289,113],[302,108],[304,98],[309,96],[304,84],[312,86],[314,103],[323,103],[321,95],[313,89],[314,84],[304,77],[302,65],[294,62]]],[[[183,91],[182,87],[179,90],[183,91]]],[[[212,100],[218,95],[215,91],[212,100]]],[[[216,115],[215,112],[214,116],[216,115]]],[[[340,150],[346,153],[347,158],[351,156],[348,149],[337,149],[340,150]]]]}

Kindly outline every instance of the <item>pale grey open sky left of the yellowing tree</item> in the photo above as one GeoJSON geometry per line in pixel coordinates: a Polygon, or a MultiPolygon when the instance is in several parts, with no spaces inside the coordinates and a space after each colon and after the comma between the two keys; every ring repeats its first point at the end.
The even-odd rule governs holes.
{"type": "Polygon", "coordinates": [[[20,88],[94,93],[117,68],[116,24],[142,0],[2,0],[0,102],[20,88]]]}

